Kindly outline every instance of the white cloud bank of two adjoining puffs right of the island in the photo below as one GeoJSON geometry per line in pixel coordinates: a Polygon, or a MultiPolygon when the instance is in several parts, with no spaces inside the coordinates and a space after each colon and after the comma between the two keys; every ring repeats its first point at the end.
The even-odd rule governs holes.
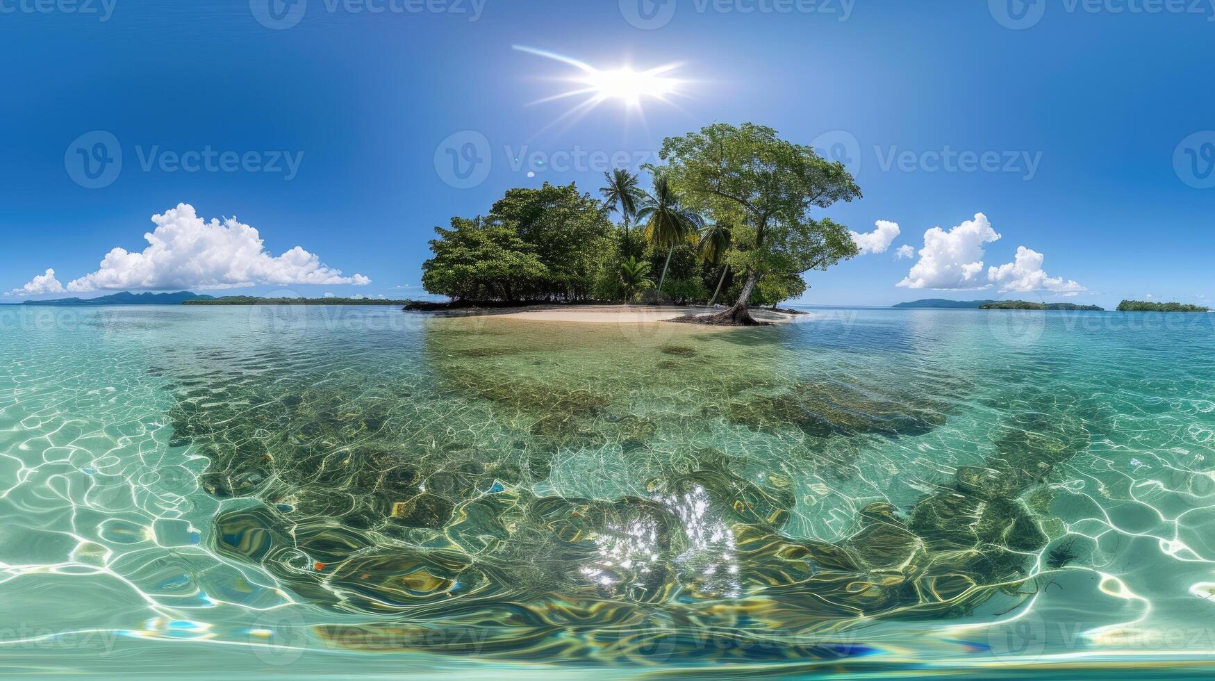
{"type": "MultiPolygon", "coordinates": [[[[966,291],[999,286],[1000,292],[1027,293],[1046,291],[1062,296],[1075,296],[1087,291],[1074,280],[1052,277],[1042,270],[1045,255],[1017,247],[1012,263],[991,266],[983,277],[984,247],[1000,240],[991,229],[987,215],[976,213],[973,220],[967,220],[948,232],[932,227],[923,232],[923,248],[920,260],[911,265],[908,276],[897,286],[906,288],[937,288],[944,291],[966,291]]],[[[898,257],[904,257],[903,247],[898,257]]],[[[910,254],[908,254],[910,257],[910,254]]]]}

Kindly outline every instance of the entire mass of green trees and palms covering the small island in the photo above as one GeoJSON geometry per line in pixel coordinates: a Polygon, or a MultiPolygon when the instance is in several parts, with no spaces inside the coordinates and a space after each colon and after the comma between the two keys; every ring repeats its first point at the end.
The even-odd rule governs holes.
{"type": "Polygon", "coordinates": [[[797,298],[802,274],[858,253],[846,226],[810,216],[859,198],[852,175],[770,128],[710,125],[668,137],[660,157],[650,191],[616,170],[603,201],[546,182],[452,218],[435,229],[423,286],[456,302],[720,299],[734,306],[714,321],[748,323],[748,305],[797,298]]]}

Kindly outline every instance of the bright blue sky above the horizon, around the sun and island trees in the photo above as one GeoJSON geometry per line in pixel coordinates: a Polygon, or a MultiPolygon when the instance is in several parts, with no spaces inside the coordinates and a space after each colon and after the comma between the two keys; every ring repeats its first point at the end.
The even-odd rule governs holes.
{"type": "Polygon", "coordinates": [[[202,289],[220,266],[208,258],[231,258],[261,282],[234,293],[413,296],[450,216],[512,186],[594,191],[614,157],[635,165],[716,120],[843,153],[865,197],[820,214],[858,232],[899,225],[885,252],[808,275],[807,302],[1215,296],[1206,0],[272,1],[273,15],[264,0],[0,0],[0,291],[46,269],[91,288],[81,296],[131,281],[202,289]],[[679,63],[671,75],[685,81],[644,116],[606,101],[554,124],[581,100],[533,102],[569,90],[558,79],[571,68],[515,45],[600,69],[679,63]],[[482,163],[462,179],[446,150],[468,143],[482,163]],[[113,147],[117,175],[87,176],[84,159],[118,168],[113,147]],[[182,169],[190,152],[210,165],[182,169]],[[234,215],[265,253],[237,223],[215,251],[185,251],[203,223],[174,210],[162,220],[177,242],[100,265],[115,247],[143,252],[151,216],[179,203],[234,215]],[[928,276],[909,276],[927,230],[978,213],[998,241],[945,233],[928,276]],[[900,259],[904,246],[915,253],[900,259]],[[294,247],[306,253],[279,258],[294,247]],[[1013,270],[1018,247],[1041,270],[1033,255],[1013,270]]]}

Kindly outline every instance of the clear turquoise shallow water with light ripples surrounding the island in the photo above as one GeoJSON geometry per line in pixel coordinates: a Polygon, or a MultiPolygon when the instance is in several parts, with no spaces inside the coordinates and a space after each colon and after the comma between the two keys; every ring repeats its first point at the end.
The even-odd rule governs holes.
{"type": "Polygon", "coordinates": [[[0,309],[0,668],[1206,675],[1213,349],[1211,315],[0,309]]]}

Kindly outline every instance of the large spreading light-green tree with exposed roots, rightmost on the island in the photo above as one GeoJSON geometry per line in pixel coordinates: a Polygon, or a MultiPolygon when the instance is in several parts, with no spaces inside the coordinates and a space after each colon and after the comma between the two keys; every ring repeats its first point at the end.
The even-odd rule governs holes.
{"type": "Polygon", "coordinates": [[[699,321],[756,323],[747,300],[762,276],[826,269],[858,253],[847,227],[810,216],[812,208],[860,198],[852,175],[813,148],[779,139],[772,128],[708,125],[667,137],[659,157],[688,208],[718,221],[738,218],[746,227],[735,230],[729,259],[746,272],[738,300],[699,321]]]}

